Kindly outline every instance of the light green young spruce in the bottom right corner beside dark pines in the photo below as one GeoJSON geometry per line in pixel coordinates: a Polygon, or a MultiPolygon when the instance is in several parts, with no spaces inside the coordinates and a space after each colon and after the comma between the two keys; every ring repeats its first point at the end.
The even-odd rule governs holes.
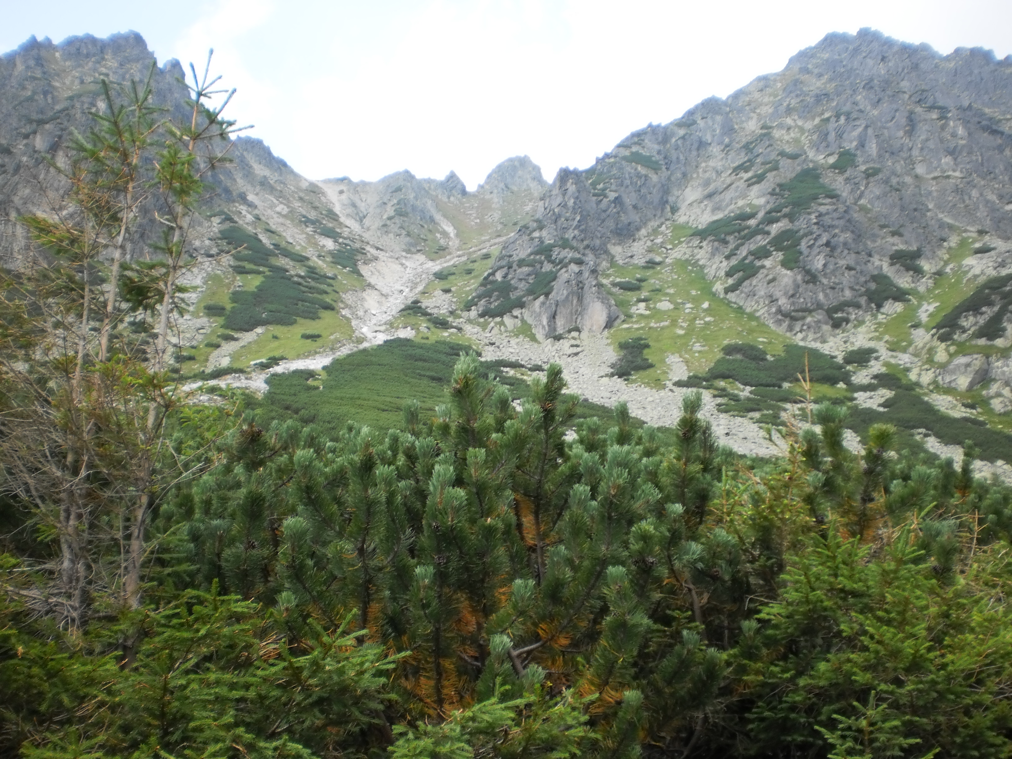
{"type": "Polygon", "coordinates": [[[993,604],[1007,565],[940,577],[925,553],[945,524],[904,529],[875,561],[834,531],[796,557],[742,646],[752,755],[1005,755],[1012,635],[993,604]]]}

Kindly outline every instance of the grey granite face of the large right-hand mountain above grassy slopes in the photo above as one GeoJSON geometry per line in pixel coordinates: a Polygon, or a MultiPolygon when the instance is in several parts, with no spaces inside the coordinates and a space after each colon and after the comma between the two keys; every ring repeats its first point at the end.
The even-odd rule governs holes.
{"type": "Polygon", "coordinates": [[[669,231],[688,229],[669,253],[768,324],[817,339],[929,286],[962,231],[988,232],[996,270],[1012,270],[1010,210],[1012,58],[835,33],[561,171],[503,246],[483,308],[520,301],[542,337],[606,328],[618,317],[597,280],[612,258],[658,229],[663,251],[669,231]],[[531,289],[552,276],[551,290],[531,289]]]}

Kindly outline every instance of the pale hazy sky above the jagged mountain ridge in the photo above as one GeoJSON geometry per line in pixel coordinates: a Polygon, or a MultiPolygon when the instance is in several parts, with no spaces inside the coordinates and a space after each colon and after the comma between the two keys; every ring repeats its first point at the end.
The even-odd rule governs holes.
{"type": "Polygon", "coordinates": [[[830,31],[1012,54],[1012,0],[0,0],[0,12],[4,51],[126,29],[159,62],[214,47],[239,88],[232,116],[308,177],[453,169],[471,188],[513,155],[549,180],[589,166],[830,31]]]}

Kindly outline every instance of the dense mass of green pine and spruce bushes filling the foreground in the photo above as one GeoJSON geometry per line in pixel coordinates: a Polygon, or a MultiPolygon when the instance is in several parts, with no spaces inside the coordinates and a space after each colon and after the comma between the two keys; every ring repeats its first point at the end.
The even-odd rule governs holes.
{"type": "MultiPolygon", "coordinates": [[[[390,429],[244,420],[161,505],[145,607],[64,636],[29,605],[29,565],[0,558],[0,751],[1012,749],[1012,491],[974,480],[973,449],[959,470],[894,455],[897,430],[872,424],[854,453],[846,409],[824,405],[818,431],[784,430],[782,457],[735,461],[698,393],[665,438],[624,404],[579,420],[558,365],[518,396],[498,370],[515,361],[460,350],[390,341],[335,359],[324,390],[272,376],[258,413],[286,378],[319,412],[360,415],[383,387],[429,395],[390,429]]],[[[800,346],[721,361],[804,371],[806,352],[814,382],[843,371],[800,346]]],[[[788,393],[724,396],[772,421],[788,393]]]]}

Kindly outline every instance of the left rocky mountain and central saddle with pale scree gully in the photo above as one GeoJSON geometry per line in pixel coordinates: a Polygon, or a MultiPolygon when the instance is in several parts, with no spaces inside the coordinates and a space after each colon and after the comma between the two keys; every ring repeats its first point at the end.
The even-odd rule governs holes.
{"type": "MultiPolygon", "coordinates": [[[[104,106],[102,79],[143,82],[151,72],[154,103],[186,115],[182,67],[169,61],[152,71],[154,64],[136,32],[59,45],[32,37],[0,57],[2,265],[16,268],[25,249],[19,217],[67,210],[68,186],[51,162],[66,164],[74,132],[92,128],[90,113],[104,106]]],[[[230,162],[208,175],[194,219],[190,253],[196,263],[186,279],[194,290],[190,314],[178,324],[181,347],[207,368],[384,339],[385,325],[431,279],[440,260],[506,239],[531,218],[546,186],[526,157],[503,162],[479,191],[468,192],[452,172],[442,180],[405,171],[376,182],[311,181],[261,141],[244,137],[227,155],[230,162]],[[264,280],[267,270],[304,288],[322,287],[326,291],[315,297],[334,309],[318,312],[308,324],[303,316],[294,324],[272,323],[268,314],[283,312],[284,304],[271,300],[281,290],[267,291],[276,284],[264,280]],[[241,289],[255,290],[270,308],[239,318],[241,310],[230,303],[241,289]],[[299,338],[308,326],[321,335],[314,342],[299,338]],[[229,339],[237,333],[239,339],[229,339]]],[[[155,232],[138,230],[132,258],[150,254],[155,232]]]]}

